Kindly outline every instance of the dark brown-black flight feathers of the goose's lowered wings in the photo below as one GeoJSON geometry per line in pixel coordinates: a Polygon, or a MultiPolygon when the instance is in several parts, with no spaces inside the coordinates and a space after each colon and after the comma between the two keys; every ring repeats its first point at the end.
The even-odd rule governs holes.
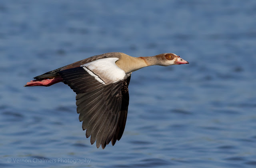
{"type": "Polygon", "coordinates": [[[77,113],[80,114],[79,120],[83,121],[86,137],[91,136],[91,144],[97,140],[97,148],[102,145],[104,149],[111,140],[113,145],[120,140],[127,117],[127,81],[130,81],[130,76],[104,85],[82,67],[62,70],[59,74],[63,82],[77,94],[77,113]]]}

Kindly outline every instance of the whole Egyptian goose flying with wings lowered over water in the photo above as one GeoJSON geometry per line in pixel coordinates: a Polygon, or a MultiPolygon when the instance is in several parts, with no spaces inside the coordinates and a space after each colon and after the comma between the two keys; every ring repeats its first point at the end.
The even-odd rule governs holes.
{"type": "Polygon", "coordinates": [[[68,84],[76,92],[76,106],[86,138],[102,149],[120,140],[126,124],[131,73],[152,65],[188,64],[176,54],[132,57],[120,52],[92,56],[34,77],[25,86],[68,84]]]}

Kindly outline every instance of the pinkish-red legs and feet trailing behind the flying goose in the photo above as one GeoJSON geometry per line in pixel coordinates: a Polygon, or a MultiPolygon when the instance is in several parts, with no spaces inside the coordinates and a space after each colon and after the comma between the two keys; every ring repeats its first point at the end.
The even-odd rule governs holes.
{"type": "Polygon", "coordinates": [[[62,82],[63,79],[61,77],[53,78],[53,79],[43,79],[43,80],[31,80],[30,82],[27,82],[25,86],[51,86],[53,84],[56,84],[58,82],[62,82]]]}

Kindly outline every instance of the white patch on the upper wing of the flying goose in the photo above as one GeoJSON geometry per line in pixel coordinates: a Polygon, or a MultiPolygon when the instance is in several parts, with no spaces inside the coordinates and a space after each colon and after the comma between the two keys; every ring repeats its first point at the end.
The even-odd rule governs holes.
{"type": "Polygon", "coordinates": [[[126,76],[124,70],[116,66],[118,58],[103,58],[81,65],[90,75],[102,84],[116,83],[126,76]]]}

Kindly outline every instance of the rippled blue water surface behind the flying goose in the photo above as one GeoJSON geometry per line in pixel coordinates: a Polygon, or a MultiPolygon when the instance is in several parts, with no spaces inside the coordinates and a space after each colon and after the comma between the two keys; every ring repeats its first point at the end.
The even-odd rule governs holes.
{"type": "Polygon", "coordinates": [[[255,0],[1,0],[0,21],[0,167],[256,167],[255,0]],[[23,85],[106,52],[190,64],[133,72],[102,150],[67,85],[23,85]]]}

